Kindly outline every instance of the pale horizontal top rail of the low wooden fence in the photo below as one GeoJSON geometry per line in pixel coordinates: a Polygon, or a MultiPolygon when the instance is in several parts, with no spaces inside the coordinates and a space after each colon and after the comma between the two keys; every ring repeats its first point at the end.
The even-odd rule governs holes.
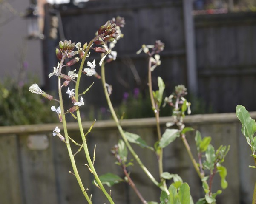
{"type": "MultiPolygon", "coordinates": [[[[256,112],[251,112],[251,117],[256,118],[256,112]]],[[[172,117],[162,117],[160,119],[161,125],[165,125],[167,122],[172,121],[172,117]]],[[[186,116],[184,122],[190,125],[200,125],[208,123],[230,123],[239,122],[235,113],[219,113],[219,114],[199,114],[186,116]]],[[[89,129],[92,122],[83,122],[84,129],[89,129]]],[[[143,118],[143,119],[124,119],[121,121],[121,125],[124,128],[128,127],[152,127],[155,126],[155,118],[143,118]]],[[[51,132],[58,126],[62,128],[61,123],[55,124],[39,124],[39,125],[17,125],[17,126],[3,126],[0,127],[0,135],[7,133],[23,134],[23,133],[42,133],[51,132]]],[[[116,128],[113,120],[96,121],[93,129],[109,129],[116,128]]],[[[68,123],[68,129],[70,131],[78,130],[78,124],[75,122],[68,123]]]]}

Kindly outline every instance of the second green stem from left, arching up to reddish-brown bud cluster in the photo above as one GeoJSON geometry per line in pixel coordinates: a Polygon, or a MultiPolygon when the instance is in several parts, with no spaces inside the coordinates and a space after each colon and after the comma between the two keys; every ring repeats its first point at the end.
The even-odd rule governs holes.
{"type": "MultiPolygon", "coordinates": [[[[89,49],[92,45],[92,43],[98,39],[98,37],[101,37],[101,36],[97,36],[95,37],[93,40],[91,40],[91,42],[89,42],[86,50],[85,50],[85,54],[83,56],[83,59],[81,61],[81,65],[80,65],[80,68],[79,68],[79,71],[78,71],[78,78],[77,78],[77,81],[76,81],[76,84],[75,84],[75,99],[78,101],[78,89],[79,89],[79,84],[80,84],[80,79],[81,79],[81,74],[82,74],[82,69],[83,69],[83,65],[84,65],[84,62],[85,62],[85,59],[86,59],[86,56],[87,56],[87,53],[89,52],[89,49]]],[[[88,146],[87,146],[87,143],[86,143],[86,138],[84,137],[84,132],[83,132],[83,126],[82,126],[82,122],[81,122],[81,116],[80,116],[80,111],[79,109],[76,111],[77,113],[77,119],[78,119],[78,126],[79,126],[79,130],[80,130],[80,133],[81,133],[81,137],[82,137],[82,140],[83,140],[83,149],[84,149],[84,152],[85,152],[85,155],[86,155],[86,159],[88,161],[88,164],[89,164],[89,167],[90,169],[92,170],[93,172],[93,175],[95,177],[95,180],[97,181],[97,184],[98,186],[101,188],[102,192],[104,193],[104,195],[106,196],[106,198],[109,200],[109,202],[111,204],[114,204],[114,201],[112,200],[111,196],[109,195],[109,193],[106,192],[106,189],[104,188],[103,184],[101,183],[101,180],[100,178],[98,177],[98,174],[94,168],[94,165],[92,163],[92,159],[90,158],[90,154],[89,154],[89,150],[88,150],[88,146]]]]}

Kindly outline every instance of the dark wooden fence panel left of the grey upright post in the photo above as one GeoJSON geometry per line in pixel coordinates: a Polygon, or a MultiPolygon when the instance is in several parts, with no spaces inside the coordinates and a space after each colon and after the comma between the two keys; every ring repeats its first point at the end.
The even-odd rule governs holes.
{"type": "MultiPolygon", "coordinates": [[[[166,82],[167,93],[174,85],[186,84],[186,58],[181,1],[175,0],[98,0],[83,4],[83,8],[60,7],[61,19],[66,39],[72,42],[88,42],[107,20],[118,15],[126,20],[122,28],[124,38],[119,40],[114,50],[118,51],[115,62],[106,65],[106,82],[112,85],[112,99],[121,102],[125,91],[133,88],[147,89],[147,59],[145,54],[136,55],[141,45],[153,45],[155,40],[165,43],[161,66],[153,72],[153,86],[157,87],[157,77],[161,75],[166,82]],[[62,9],[63,8],[63,9],[62,9]],[[135,79],[131,68],[138,71],[135,79]]],[[[91,52],[89,61],[96,59],[96,71],[100,74],[98,62],[100,55],[91,52]]],[[[78,69],[78,68],[77,68],[78,69]]],[[[94,77],[83,77],[81,87],[95,82],[85,100],[88,105],[103,106],[106,102],[101,82],[94,77]],[[95,94],[97,93],[97,94],[95,94]]]]}

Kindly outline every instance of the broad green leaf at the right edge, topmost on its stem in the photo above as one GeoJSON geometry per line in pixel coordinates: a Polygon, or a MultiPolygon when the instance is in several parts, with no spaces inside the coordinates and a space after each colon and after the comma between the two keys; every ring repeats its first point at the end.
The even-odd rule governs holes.
{"type": "Polygon", "coordinates": [[[252,140],[253,135],[256,132],[255,120],[250,117],[249,112],[242,105],[236,106],[236,116],[242,123],[242,133],[252,140]]]}

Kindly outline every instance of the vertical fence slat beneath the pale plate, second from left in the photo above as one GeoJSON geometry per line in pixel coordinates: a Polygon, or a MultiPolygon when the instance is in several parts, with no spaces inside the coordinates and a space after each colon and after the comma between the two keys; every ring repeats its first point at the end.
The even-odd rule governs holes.
{"type": "Polygon", "coordinates": [[[58,203],[51,146],[46,150],[30,150],[27,137],[28,135],[19,136],[25,202],[58,203]]]}

